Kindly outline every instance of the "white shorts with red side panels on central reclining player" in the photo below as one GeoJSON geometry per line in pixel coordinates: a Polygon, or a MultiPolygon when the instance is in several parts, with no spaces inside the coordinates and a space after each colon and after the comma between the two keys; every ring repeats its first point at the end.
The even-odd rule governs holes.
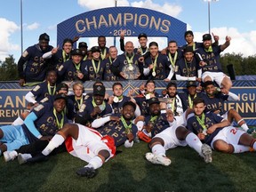
{"type": "MultiPolygon", "coordinates": [[[[102,135],[100,134],[100,132],[97,132],[96,130],[93,130],[81,124],[77,125],[79,129],[77,140],[68,137],[65,141],[68,153],[88,163],[93,156],[98,155],[100,150],[108,150],[110,154],[109,158],[114,156],[111,149],[108,148],[106,144],[108,140],[102,140],[102,135]]],[[[106,159],[106,161],[108,159],[106,159]]]]}

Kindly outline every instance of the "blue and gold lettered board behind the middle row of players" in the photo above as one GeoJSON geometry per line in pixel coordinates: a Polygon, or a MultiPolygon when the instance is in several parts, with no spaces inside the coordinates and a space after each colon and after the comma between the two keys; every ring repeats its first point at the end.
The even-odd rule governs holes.
{"type": "MultiPolygon", "coordinates": [[[[92,85],[95,82],[88,81],[84,83],[86,93],[92,92],[92,85]]],[[[115,82],[103,82],[106,92],[112,95],[112,85],[115,82]]],[[[131,89],[135,90],[135,95],[139,93],[140,84],[146,83],[142,80],[123,81],[124,95],[131,89]]],[[[164,81],[156,81],[156,92],[160,95],[168,83],[164,81]]],[[[178,92],[186,91],[186,82],[178,82],[178,92]]],[[[33,87],[20,87],[17,82],[0,82],[0,124],[12,124],[12,122],[20,116],[27,106],[25,95],[33,87]]],[[[71,88],[69,88],[72,91],[71,88]]],[[[226,102],[224,108],[235,108],[236,111],[244,117],[248,125],[256,125],[256,82],[255,81],[233,81],[230,92],[239,96],[239,101],[226,102]]]]}

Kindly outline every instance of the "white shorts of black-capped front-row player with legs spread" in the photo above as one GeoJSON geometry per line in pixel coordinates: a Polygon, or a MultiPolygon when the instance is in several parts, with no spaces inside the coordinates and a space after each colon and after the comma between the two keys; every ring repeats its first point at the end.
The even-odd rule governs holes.
{"type": "Polygon", "coordinates": [[[177,146],[185,147],[187,146],[186,140],[178,140],[176,137],[176,129],[178,125],[173,125],[168,127],[163,132],[156,134],[154,138],[161,138],[164,140],[164,149],[168,150],[169,148],[176,148],[177,146]]]}

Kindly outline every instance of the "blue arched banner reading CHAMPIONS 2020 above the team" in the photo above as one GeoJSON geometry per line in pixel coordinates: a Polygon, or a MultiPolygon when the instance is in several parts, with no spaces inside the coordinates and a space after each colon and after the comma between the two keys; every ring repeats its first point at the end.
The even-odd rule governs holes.
{"type": "Polygon", "coordinates": [[[186,44],[186,23],[162,12],[135,7],[93,10],[64,20],[57,25],[57,44],[62,44],[67,37],[120,36],[124,29],[124,36],[146,33],[147,36],[166,36],[168,41],[175,40],[179,46],[186,44]]]}

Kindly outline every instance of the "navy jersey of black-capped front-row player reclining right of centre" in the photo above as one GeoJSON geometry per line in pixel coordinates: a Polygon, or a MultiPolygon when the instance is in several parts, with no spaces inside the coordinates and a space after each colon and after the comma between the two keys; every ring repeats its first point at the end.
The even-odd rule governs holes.
{"type": "Polygon", "coordinates": [[[146,116],[145,118],[145,124],[152,124],[153,129],[151,131],[151,137],[153,138],[157,133],[163,132],[164,129],[170,127],[169,122],[167,121],[166,114],[161,114],[157,116],[156,120],[152,121],[151,119],[152,116],[146,116]],[[151,120],[151,121],[150,121],[151,120]]]}

